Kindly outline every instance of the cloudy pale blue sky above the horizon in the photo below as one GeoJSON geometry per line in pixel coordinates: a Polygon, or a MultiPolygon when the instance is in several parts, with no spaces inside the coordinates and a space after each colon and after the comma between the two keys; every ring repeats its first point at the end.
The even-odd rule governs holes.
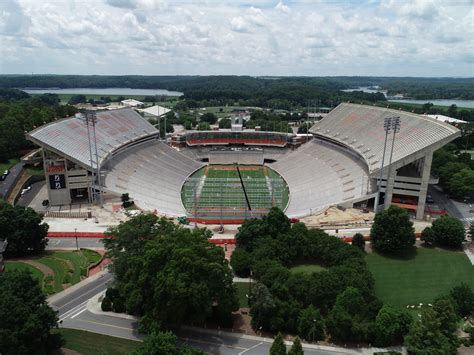
{"type": "Polygon", "coordinates": [[[0,0],[0,74],[474,76],[474,0],[0,0]]]}

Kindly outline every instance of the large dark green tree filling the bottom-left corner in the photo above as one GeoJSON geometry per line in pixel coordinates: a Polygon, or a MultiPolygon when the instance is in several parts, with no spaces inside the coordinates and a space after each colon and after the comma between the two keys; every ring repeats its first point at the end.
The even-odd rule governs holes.
{"type": "Polygon", "coordinates": [[[50,332],[56,326],[56,313],[29,272],[0,274],[0,300],[2,354],[49,354],[62,345],[60,335],[50,332]]]}

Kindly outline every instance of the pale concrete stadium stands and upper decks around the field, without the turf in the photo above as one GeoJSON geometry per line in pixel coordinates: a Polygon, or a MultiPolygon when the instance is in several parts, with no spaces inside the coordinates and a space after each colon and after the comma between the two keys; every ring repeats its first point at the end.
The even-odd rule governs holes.
{"type": "MultiPolygon", "coordinates": [[[[95,127],[89,129],[95,130],[97,151],[88,121],[81,115],[40,127],[27,137],[43,149],[51,205],[69,205],[81,198],[97,203],[97,192],[102,190],[117,196],[129,193],[143,210],[171,217],[189,215],[182,201],[183,186],[212,160],[216,141],[219,159],[222,147],[229,147],[229,164],[239,163],[239,151],[249,158],[249,150],[254,150],[255,157],[288,185],[286,213],[302,217],[335,205],[373,206],[386,117],[398,117],[400,130],[393,154],[389,152],[394,135],[388,137],[379,208],[393,203],[393,196],[398,196],[397,201],[408,196],[415,204],[401,205],[422,219],[428,184],[436,181],[430,177],[432,154],[460,132],[447,123],[403,111],[343,103],[310,129],[314,139],[308,142],[277,132],[207,131],[185,133],[179,147],[172,147],[160,141],[157,129],[132,109],[96,114],[95,127]]],[[[204,184],[206,177],[202,179],[204,184]]],[[[241,185],[246,194],[242,179],[241,185]]],[[[267,185],[264,195],[274,195],[271,183],[267,185]]],[[[199,198],[203,186],[196,186],[199,198]]]]}

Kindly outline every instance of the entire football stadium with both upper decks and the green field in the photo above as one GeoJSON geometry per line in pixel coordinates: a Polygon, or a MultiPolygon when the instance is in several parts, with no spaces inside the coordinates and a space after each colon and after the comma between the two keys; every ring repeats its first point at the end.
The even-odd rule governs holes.
{"type": "Polygon", "coordinates": [[[77,114],[27,137],[42,148],[50,205],[128,193],[145,211],[239,224],[273,206],[304,217],[330,206],[397,204],[422,219],[437,182],[433,152],[460,136],[424,115],[352,103],[309,132],[182,131],[165,142],[127,108],[77,114]]]}

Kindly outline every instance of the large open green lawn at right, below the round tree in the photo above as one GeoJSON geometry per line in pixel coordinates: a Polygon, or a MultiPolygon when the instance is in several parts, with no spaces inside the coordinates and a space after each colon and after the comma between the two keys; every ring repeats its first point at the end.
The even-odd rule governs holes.
{"type": "Polygon", "coordinates": [[[430,303],[461,282],[474,288],[474,266],[462,252],[416,248],[403,257],[372,253],[366,261],[377,296],[395,306],[430,303]]]}

